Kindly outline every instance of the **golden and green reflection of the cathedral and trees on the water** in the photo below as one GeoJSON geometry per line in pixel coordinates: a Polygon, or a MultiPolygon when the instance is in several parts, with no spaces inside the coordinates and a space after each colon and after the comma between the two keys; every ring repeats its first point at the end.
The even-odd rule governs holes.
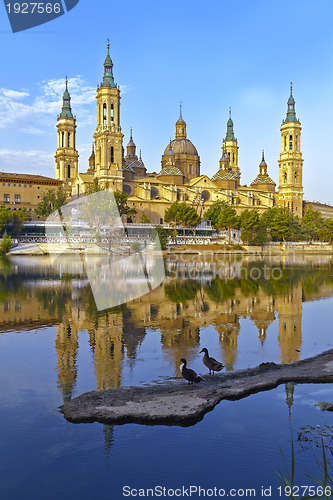
{"type": "MultiPolygon", "coordinates": [[[[289,363],[300,358],[303,303],[333,294],[332,263],[329,257],[173,258],[166,261],[161,286],[98,312],[87,277],[73,274],[68,258],[59,258],[56,267],[47,258],[5,259],[0,261],[0,335],[56,326],[58,387],[64,401],[77,383],[82,333],[88,336],[98,390],[122,384],[124,363],[135,366],[152,331],[160,346],[156,356],[180,375],[179,359],[198,357],[205,328],[217,336],[215,356],[233,370],[243,320],[256,329],[256,339],[249,341],[252,350],[265,345],[269,327],[277,322],[278,361],[289,363]]],[[[286,391],[289,406],[293,388],[286,391]]],[[[112,429],[105,433],[111,443],[112,429]]]]}

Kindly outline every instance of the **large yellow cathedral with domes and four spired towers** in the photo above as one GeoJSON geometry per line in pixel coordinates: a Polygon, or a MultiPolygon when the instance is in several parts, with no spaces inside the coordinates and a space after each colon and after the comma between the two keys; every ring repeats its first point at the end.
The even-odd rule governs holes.
{"type": "Polygon", "coordinates": [[[215,201],[224,201],[232,205],[238,214],[245,209],[255,208],[262,212],[267,208],[282,206],[302,217],[301,124],[296,117],[292,86],[286,118],[281,125],[277,191],[274,180],[269,176],[264,152],[257,177],[250,186],[241,184],[238,142],[231,110],[222,142],[221,159],[212,178],[200,171],[200,156],[187,137],[181,106],[175,125],[175,138],[168,142],[162,154],[158,173],[147,172],[141,152],[137,155],[132,130],[125,154],[120,120],[120,90],[114,81],[109,44],[103,81],[97,88],[97,126],[89,166],[85,173],[79,172],[76,119],[72,113],[67,84],[66,80],[63,106],[57,122],[58,149],[55,161],[56,179],[62,181],[72,199],[85,195],[94,179],[98,179],[99,186],[128,194],[130,212],[127,222],[140,222],[144,214],[151,223],[160,224],[165,210],[176,200],[193,206],[201,216],[215,201]]]}

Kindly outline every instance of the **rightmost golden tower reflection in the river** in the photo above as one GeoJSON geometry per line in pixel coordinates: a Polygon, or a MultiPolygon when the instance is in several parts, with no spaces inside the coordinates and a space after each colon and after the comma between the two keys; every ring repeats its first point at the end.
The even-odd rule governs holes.
{"type": "Polygon", "coordinates": [[[295,285],[276,301],[279,312],[279,337],[281,362],[299,359],[302,343],[302,285],[295,285]]]}

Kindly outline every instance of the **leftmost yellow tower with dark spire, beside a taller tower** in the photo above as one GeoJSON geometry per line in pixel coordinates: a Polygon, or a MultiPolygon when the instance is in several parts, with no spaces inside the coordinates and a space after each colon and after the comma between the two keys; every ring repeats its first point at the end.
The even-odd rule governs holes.
{"type": "Polygon", "coordinates": [[[78,152],[76,150],[76,119],[71,109],[71,96],[66,90],[63,95],[63,105],[57,122],[58,149],[55,154],[56,178],[63,181],[64,189],[71,192],[71,185],[78,173],[78,152]]]}

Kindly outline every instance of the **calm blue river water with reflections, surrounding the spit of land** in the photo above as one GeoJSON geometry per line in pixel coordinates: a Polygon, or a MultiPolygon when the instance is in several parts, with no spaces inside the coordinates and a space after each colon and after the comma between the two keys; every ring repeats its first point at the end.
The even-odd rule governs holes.
{"type": "Polygon", "coordinates": [[[118,500],[125,485],[256,488],[257,498],[264,485],[279,498],[291,433],[296,484],[314,484],[310,444],[333,434],[332,413],[315,405],[333,402],[331,384],[222,401],[188,428],[75,425],[59,413],[82,392],[180,376],[181,357],[205,373],[202,347],[229,371],[333,347],[333,259],[193,260],[166,261],[160,287],[102,313],[68,259],[0,261],[1,499],[118,500]]]}

